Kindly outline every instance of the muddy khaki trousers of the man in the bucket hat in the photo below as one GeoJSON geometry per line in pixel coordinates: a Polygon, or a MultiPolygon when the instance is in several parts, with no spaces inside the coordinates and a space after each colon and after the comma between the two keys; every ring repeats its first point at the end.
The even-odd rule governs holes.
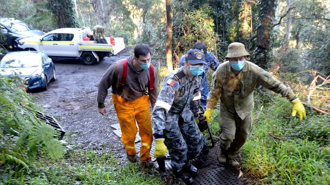
{"type": "Polygon", "coordinates": [[[228,158],[234,159],[249,136],[252,112],[242,120],[237,113],[231,113],[224,106],[220,106],[219,124],[222,128],[220,149],[228,158]]]}

